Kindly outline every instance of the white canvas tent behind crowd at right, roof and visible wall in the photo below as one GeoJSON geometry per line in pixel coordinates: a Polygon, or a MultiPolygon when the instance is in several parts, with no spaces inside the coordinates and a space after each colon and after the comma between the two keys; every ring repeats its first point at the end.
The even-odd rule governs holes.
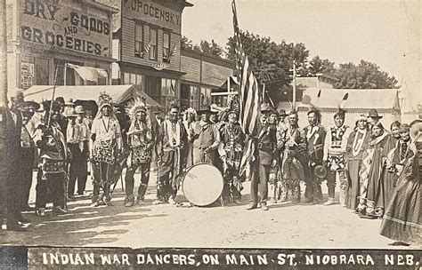
{"type": "MultiPolygon", "coordinates": [[[[382,115],[381,123],[385,129],[390,128],[394,121],[401,120],[401,108],[399,105],[398,91],[396,89],[318,89],[307,88],[301,102],[296,102],[299,112],[299,126],[304,127],[308,124],[307,112],[314,106],[321,110],[321,124],[329,126],[333,124],[334,114],[338,106],[348,93],[348,99],[345,102],[345,123],[354,127],[356,118],[359,115],[366,115],[369,109],[377,109],[379,115],[382,115]],[[320,93],[321,91],[321,93],[320,93]],[[320,97],[318,94],[320,93],[320,97]]],[[[288,102],[281,102],[279,108],[290,110],[288,102]]]]}

